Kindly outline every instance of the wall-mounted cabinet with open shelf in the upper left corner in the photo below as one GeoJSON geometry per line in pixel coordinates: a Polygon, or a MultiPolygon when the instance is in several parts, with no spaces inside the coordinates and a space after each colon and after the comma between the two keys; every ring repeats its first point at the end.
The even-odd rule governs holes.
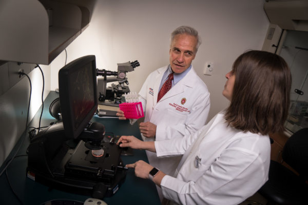
{"type": "Polygon", "coordinates": [[[82,3],[93,1],[1,0],[0,60],[49,65],[89,25],[82,3]]]}

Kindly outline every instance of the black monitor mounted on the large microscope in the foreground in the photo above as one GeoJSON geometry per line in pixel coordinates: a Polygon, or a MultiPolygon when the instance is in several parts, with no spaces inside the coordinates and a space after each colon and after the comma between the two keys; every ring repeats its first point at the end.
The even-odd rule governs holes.
{"type": "Polygon", "coordinates": [[[65,135],[77,138],[98,107],[94,55],[75,59],[60,69],[59,94],[65,135]]]}

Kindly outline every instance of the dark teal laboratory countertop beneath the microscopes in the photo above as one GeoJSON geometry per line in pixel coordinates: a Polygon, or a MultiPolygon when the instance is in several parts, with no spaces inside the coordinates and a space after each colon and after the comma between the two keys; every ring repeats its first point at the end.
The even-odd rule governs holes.
{"type": "MultiPolygon", "coordinates": [[[[44,111],[41,120],[41,127],[49,126],[52,122],[56,122],[49,113],[49,106],[51,102],[59,95],[51,91],[44,101],[44,111]]],[[[42,108],[41,108],[42,109],[42,108]]],[[[41,109],[37,111],[29,127],[38,127],[41,109]]],[[[128,120],[119,120],[118,118],[100,118],[94,115],[91,121],[100,122],[105,126],[106,132],[111,132],[114,135],[134,135],[141,138],[138,123],[133,125],[129,124],[128,120]]],[[[47,201],[55,199],[70,199],[76,201],[85,201],[91,196],[72,194],[60,190],[49,188],[41,183],[35,182],[26,176],[26,168],[28,163],[28,156],[26,154],[27,147],[29,146],[30,139],[28,133],[25,135],[23,141],[21,137],[17,142],[15,148],[8,156],[5,163],[16,152],[18,145],[23,142],[21,149],[16,154],[16,157],[7,168],[7,173],[0,176],[0,204],[21,204],[17,197],[21,199],[22,204],[35,205],[44,204],[47,201]],[[10,185],[12,189],[10,188],[10,185]]],[[[133,163],[137,160],[144,160],[148,162],[144,150],[133,150],[132,156],[121,156],[124,164],[133,163]]],[[[2,168],[4,167],[2,166],[2,168]]],[[[105,197],[103,200],[109,204],[161,204],[156,190],[155,184],[148,179],[141,179],[134,176],[134,171],[129,169],[126,174],[125,181],[111,197],[105,197]]]]}

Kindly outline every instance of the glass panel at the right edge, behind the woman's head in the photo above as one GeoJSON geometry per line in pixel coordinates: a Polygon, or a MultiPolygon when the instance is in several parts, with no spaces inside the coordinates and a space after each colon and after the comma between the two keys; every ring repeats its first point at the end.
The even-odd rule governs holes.
{"type": "Polygon", "coordinates": [[[285,127],[290,134],[308,127],[308,32],[287,31],[280,56],[291,69],[291,104],[285,127]]]}

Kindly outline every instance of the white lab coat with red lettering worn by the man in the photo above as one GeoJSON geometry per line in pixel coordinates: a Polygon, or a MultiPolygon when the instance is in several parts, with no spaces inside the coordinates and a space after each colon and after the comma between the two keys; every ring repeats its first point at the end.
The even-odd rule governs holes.
{"type": "MultiPolygon", "coordinates": [[[[144,141],[183,137],[196,132],[206,123],[210,106],[209,92],[192,67],[157,103],[159,86],[166,69],[168,66],[150,73],[139,92],[145,109],[144,121],[157,126],[156,137],[142,135],[144,141]]],[[[147,152],[147,157],[153,167],[166,174],[174,173],[181,159],[181,156],[158,159],[152,152],[147,152]]]]}

